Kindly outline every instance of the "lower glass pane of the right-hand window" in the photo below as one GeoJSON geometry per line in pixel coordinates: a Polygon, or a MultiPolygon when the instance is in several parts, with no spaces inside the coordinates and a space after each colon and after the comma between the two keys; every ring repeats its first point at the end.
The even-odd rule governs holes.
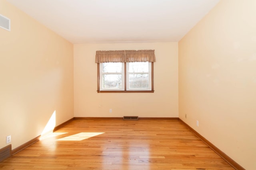
{"type": "Polygon", "coordinates": [[[148,74],[129,74],[129,88],[144,89],[148,88],[148,74]]]}

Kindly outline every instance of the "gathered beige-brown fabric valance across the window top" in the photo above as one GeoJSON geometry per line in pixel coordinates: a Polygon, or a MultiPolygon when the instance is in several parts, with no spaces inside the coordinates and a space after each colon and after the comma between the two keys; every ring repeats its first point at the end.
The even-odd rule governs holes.
{"type": "Polygon", "coordinates": [[[95,63],[156,62],[155,50],[96,51],[95,63]]]}

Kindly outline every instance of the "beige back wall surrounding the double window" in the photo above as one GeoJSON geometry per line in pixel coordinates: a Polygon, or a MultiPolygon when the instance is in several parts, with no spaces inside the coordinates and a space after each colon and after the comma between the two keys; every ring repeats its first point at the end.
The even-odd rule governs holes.
{"type": "Polygon", "coordinates": [[[178,117],[178,43],[74,45],[75,117],[178,117]],[[154,93],[97,93],[97,50],[155,49],[154,93]],[[109,113],[109,109],[112,113],[109,113]]]}

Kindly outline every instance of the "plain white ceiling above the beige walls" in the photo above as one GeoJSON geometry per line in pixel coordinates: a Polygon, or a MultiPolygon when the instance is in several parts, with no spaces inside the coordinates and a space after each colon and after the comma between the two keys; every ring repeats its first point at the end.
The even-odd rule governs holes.
{"type": "Polygon", "coordinates": [[[219,0],[7,0],[71,43],[177,42],[219,0]]]}

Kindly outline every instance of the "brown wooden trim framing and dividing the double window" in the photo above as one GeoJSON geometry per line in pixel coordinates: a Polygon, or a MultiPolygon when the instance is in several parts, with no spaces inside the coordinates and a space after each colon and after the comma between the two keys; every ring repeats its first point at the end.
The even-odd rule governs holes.
{"type": "Polygon", "coordinates": [[[151,62],[151,90],[126,90],[126,63],[124,63],[124,90],[100,90],[100,63],[97,63],[98,93],[154,93],[154,62],[151,62]]]}

